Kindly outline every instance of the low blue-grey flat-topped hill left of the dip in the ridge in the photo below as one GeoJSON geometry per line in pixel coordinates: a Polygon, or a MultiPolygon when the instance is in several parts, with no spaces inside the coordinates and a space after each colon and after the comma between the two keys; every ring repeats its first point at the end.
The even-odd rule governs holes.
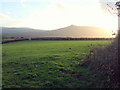
{"type": "Polygon", "coordinates": [[[31,28],[2,28],[2,35],[5,37],[34,37],[40,36],[45,31],[31,28]]]}

